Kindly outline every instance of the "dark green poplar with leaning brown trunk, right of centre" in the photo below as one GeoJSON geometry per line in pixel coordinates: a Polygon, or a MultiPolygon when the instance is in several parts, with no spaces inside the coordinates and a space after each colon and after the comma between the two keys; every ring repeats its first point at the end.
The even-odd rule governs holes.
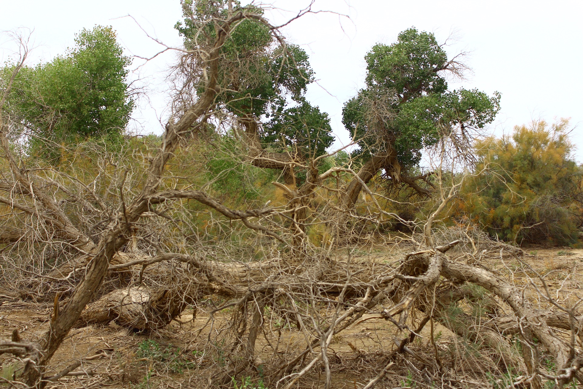
{"type": "Polygon", "coordinates": [[[362,188],[384,170],[392,184],[429,191],[412,176],[424,148],[451,139],[456,148],[469,148],[469,132],[492,122],[500,109],[500,94],[472,89],[448,90],[447,73],[460,75],[457,57],[447,58],[432,33],[402,31],[391,45],[377,44],[365,57],[366,87],[343,108],[343,123],[359,148],[359,178],[347,188],[344,204],[351,208],[362,188]]]}

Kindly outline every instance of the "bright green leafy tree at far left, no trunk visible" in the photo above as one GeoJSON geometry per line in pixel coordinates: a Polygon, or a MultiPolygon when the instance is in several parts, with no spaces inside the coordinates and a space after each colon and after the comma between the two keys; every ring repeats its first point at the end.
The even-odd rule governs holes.
{"type": "MultiPolygon", "coordinates": [[[[134,108],[127,80],[131,60],[111,27],[83,29],[75,47],[45,64],[24,66],[7,101],[13,130],[29,152],[57,164],[59,145],[87,139],[118,143],[134,108]]],[[[2,69],[2,77],[13,66],[2,69]]]]}

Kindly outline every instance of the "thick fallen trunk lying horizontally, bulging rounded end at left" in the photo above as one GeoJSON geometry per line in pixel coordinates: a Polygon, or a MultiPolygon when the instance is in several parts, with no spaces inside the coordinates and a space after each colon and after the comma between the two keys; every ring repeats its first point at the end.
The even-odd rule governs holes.
{"type": "MultiPolygon", "coordinates": [[[[171,274],[171,265],[165,264],[148,272],[149,277],[159,277],[156,282],[147,282],[141,286],[114,290],[90,304],[75,324],[80,327],[88,324],[107,324],[110,321],[139,331],[152,331],[163,328],[179,316],[188,306],[196,305],[199,297],[219,295],[227,299],[240,299],[250,290],[278,289],[280,292],[303,290],[305,285],[317,285],[319,290],[329,295],[338,295],[345,287],[347,276],[338,263],[328,258],[311,267],[285,269],[282,261],[199,262],[188,255],[163,254],[157,257],[134,257],[125,264],[111,265],[110,270],[133,268],[138,271],[140,265],[151,265],[162,261],[179,261],[193,266],[194,271],[183,272],[181,277],[171,274]],[[297,272],[298,274],[294,274],[297,272]],[[164,285],[164,286],[146,286],[164,285]]],[[[354,264],[356,273],[359,265],[354,264]]],[[[346,288],[345,295],[364,296],[370,283],[382,287],[393,278],[382,275],[394,272],[390,267],[380,267],[375,276],[372,272],[360,269],[359,278],[346,288]],[[375,278],[376,277],[376,278],[375,278]]]]}

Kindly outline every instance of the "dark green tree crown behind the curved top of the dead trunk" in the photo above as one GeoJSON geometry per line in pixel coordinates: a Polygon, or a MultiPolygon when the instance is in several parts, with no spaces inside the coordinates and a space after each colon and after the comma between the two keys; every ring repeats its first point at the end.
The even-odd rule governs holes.
{"type": "MultiPolygon", "coordinates": [[[[234,12],[263,11],[233,2],[234,12]]],[[[205,20],[224,17],[226,1],[185,2],[184,21],[175,28],[188,50],[212,41],[215,30],[205,20]]],[[[297,45],[278,41],[269,27],[245,19],[232,31],[222,47],[219,73],[220,107],[245,120],[261,122],[261,141],[266,147],[293,150],[300,157],[325,153],[334,138],[328,114],[305,99],[314,71],[307,53],[297,45]]],[[[186,84],[198,90],[203,68],[201,52],[192,55],[186,84]]],[[[182,70],[185,68],[183,67],[182,70]]]]}

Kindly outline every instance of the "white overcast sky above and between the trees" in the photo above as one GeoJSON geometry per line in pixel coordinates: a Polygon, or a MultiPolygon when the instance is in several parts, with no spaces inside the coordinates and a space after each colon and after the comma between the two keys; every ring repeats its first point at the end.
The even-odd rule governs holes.
{"type": "MultiPolygon", "coordinates": [[[[289,19],[309,1],[265,0],[273,24],[289,19]]],[[[111,25],[128,54],[149,57],[160,50],[141,28],[170,46],[181,39],[174,24],[181,18],[179,0],[0,0],[0,30],[33,29],[36,49],[29,65],[48,61],[73,45],[74,34],[95,24],[111,25]]],[[[343,129],[342,105],[363,86],[364,55],[375,43],[391,44],[409,27],[432,31],[439,41],[454,33],[450,55],[469,51],[472,68],[465,80],[450,87],[476,87],[502,93],[502,109],[491,131],[510,132],[533,119],[553,121],[570,117],[571,133],[583,162],[583,1],[538,0],[317,0],[314,10],[335,13],[306,15],[285,28],[292,43],[310,55],[318,79],[308,97],[331,116],[336,145],[349,141],[343,129]]],[[[3,37],[0,59],[6,61],[13,45],[3,37]]],[[[132,73],[149,89],[133,123],[141,133],[160,134],[164,118],[167,67],[175,54],[167,52],[132,73]]],[[[133,68],[141,64],[135,59],[133,68]]]]}

